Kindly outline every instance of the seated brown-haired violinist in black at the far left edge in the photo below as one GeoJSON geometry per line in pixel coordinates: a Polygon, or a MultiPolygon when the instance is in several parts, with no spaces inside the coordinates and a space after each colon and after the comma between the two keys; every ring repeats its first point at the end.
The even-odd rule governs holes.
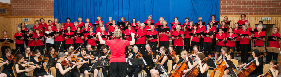
{"type": "MultiPolygon", "coordinates": [[[[11,53],[12,53],[12,52],[13,52],[13,51],[12,51],[10,48],[5,49],[6,55],[2,56],[1,58],[2,58],[3,60],[8,60],[8,57],[11,56],[11,53]]],[[[10,61],[10,60],[8,60],[8,61],[10,61]]],[[[12,75],[12,77],[14,77],[14,73],[13,73],[13,70],[12,70],[14,61],[11,60],[10,62],[11,62],[11,63],[6,63],[6,64],[4,64],[4,65],[2,64],[3,67],[4,67],[4,69],[3,69],[2,72],[5,73],[5,74],[7,74],[7,77],[10,77],[10,74],[12,75]]]]}

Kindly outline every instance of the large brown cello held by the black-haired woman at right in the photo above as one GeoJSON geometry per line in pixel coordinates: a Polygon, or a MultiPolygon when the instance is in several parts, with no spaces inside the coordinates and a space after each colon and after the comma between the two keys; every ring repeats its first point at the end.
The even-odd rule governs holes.
{"type": "MultiPolygon", "coordinates": [[[[260,55],[258,58],[260,58],[260,57],[264,57],[264,56],[266,56],[266,53],[263,53],[264,55],[260,55]]],[[[256,69],[256,64],[254,63],[254,61],[255,61],[255,59],[254,60],[252,60],[250,63],[248,63],[247,65],[245,65],[242,69],[240,69],[240,70],[242,70],[241,72],[239,72],[238,74],[237,74],[237,76],[238,77],[247,77],[250,73],[252,73],[255,69],[256,69]]],[[[240,71],[239,70],[239,71],[240,71]]]]}

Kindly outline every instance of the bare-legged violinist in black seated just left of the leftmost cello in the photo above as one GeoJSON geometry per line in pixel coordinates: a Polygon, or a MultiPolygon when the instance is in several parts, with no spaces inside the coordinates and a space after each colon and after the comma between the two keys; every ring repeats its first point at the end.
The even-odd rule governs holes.
{"type": "MultiPolygon", "coordinates": [[[[153,62],[157,63],[157,64],[160,64],[160,65],[163,65],[164,68],[166,70],[168,70],[168,56],[166,55],[166,48],[164,46],[160,47],[160,54],[161,54],[161,59],[160,60],[156,60],[156,59],[159,59],[158,57],[156,59],[153,59],[153,62]]],[[[160,56],[160,55],[159,55],[160,56]]],[[[162,74],[163,72],[161,72],[158,68],[153,68],[152,70],[150,70],[150,73],[151,73],[151,77],[158,77],[160,74],[162,74]]]]}

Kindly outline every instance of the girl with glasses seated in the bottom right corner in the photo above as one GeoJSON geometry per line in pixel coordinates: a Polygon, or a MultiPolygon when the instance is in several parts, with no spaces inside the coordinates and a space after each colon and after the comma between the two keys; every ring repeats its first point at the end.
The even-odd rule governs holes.
{"type": "Polygon", "coordinates": [[[268,72],[266,72],[266,73],[264,73],[262,75],[259,75],[258,77],[265,76],[266,74],[269,75],[268,73],[270,73],[272,77],[278,77],[279,70],[278,70],[278,68],[276,66],[277,64],[278,64],[278,62],[276,60],[270,61],[269,62],[270,68],[269,68],[268,72]]]}

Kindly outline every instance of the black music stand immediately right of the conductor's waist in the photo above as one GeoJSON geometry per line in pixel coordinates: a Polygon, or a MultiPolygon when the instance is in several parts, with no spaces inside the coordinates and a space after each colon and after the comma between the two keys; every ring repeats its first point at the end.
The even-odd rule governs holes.
{"type": "Polygon", "coordinates": [[[138,59],[138,58],[128,59],[128,63],[130,65],[147,65],[144,59],[138,59]]]}

